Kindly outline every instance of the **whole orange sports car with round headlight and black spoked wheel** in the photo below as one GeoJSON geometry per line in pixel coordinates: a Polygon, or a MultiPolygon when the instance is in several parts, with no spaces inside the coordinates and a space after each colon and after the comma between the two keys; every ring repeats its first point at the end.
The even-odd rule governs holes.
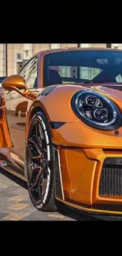
{"type": "Polygon", "coordinates": [[[122,214],[122,50],[39,52],[0,102],[0,165],[37,209],[122,214]]]}

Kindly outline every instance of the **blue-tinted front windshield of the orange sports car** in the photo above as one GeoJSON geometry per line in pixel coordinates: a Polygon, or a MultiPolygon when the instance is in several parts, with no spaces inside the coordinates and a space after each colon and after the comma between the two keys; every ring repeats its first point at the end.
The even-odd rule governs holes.
{"type": "Polygon", "coordinates": [[[122,82],[122,51],[68,50],[44,58],[44,86],[122,82]]]}

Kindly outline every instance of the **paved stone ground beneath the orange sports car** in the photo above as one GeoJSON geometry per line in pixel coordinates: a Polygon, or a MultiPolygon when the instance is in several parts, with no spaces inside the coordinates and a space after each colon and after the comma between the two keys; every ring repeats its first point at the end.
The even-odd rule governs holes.
{"type": "Polygon", "coordinates": [[[0,169],[0,221],[98,221],[97,217],[66,206],[61,205],[59,209],[56,213],[36,210],[28,196],[27,184],[0,169]]]}

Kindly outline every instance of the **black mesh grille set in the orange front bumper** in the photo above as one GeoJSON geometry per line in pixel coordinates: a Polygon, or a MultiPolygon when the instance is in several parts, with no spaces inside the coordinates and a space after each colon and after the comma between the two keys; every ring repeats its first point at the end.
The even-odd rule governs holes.
{"type": "Polygon", "coordinates": [[[103,166],[99,195],[122,195],[122,165],[103,166]]]}

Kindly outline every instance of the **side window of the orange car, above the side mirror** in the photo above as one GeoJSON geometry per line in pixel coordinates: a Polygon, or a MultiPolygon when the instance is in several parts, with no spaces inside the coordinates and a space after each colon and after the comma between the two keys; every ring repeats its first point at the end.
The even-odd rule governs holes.
{"type": "Polygon", "coordinates": [[[32,58],[20,71],[20,76],[24,78],[24,81],[29,89],[37,87],[37,69],[38,58],[32,58]]]}

